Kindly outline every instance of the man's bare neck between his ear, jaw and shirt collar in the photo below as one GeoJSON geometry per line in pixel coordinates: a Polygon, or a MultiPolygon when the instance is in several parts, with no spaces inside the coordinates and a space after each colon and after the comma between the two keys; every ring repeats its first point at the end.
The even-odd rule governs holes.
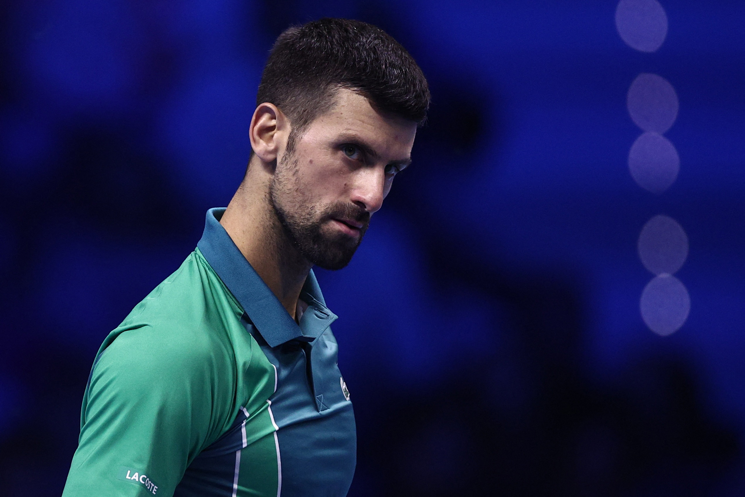
{"type": "Polygon", "coordinates": [[[270,168],[256,155],[251,158],[220,224],[294,319],[311,263],[292,246],[270,204],[270,168]]]}

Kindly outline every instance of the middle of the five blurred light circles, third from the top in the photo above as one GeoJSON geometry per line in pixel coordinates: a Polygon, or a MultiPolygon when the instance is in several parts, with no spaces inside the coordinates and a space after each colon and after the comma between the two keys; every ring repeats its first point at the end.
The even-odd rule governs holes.
{"type": "Polygon", "coordinates": [[[675,146],[658,133],[639,136],[629,151],[629,171],[641,188],[662,193],[675,183],[680,158],[675,146]]]}

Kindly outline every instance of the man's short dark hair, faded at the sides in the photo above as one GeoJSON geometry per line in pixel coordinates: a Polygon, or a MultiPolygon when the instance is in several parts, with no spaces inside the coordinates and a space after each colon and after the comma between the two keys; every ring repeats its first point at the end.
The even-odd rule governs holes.
{"type": "Polygon", "coordinates": [[[430,96],[422,69],[381,28],[351,19],[319,19],[280,34],[256,105],[276,105],[290,119],[293,134],[302,133],[330,110],[339,88],[363,95],[377,110],[425,121],[430,96]]]}

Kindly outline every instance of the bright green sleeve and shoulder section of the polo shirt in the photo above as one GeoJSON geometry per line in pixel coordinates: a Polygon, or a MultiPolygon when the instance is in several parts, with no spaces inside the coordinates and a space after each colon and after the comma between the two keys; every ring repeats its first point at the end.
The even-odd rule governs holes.
{"type": "Polygon", "coordinates": [[[171,496],[241,407],[261,424],[254,437],[273,431],[258,422],[275,373],[242,314],[198,250],[133,309],[96,357],[63,496],[146,496],[153,485],[171,496]],[[119,478],[121,468],[152,484],[119,478]]]}

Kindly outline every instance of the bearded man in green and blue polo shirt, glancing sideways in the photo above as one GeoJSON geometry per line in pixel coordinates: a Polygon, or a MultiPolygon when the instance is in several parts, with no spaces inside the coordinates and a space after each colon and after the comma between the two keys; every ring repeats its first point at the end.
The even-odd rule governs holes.
{"type": "Polygon", "coordinates": [[[372,25],[277,39],[241,186],[98,352],[64,496],[346,495],[354,415],[311,266],[349,263],[428,103],[372,25]]]}

